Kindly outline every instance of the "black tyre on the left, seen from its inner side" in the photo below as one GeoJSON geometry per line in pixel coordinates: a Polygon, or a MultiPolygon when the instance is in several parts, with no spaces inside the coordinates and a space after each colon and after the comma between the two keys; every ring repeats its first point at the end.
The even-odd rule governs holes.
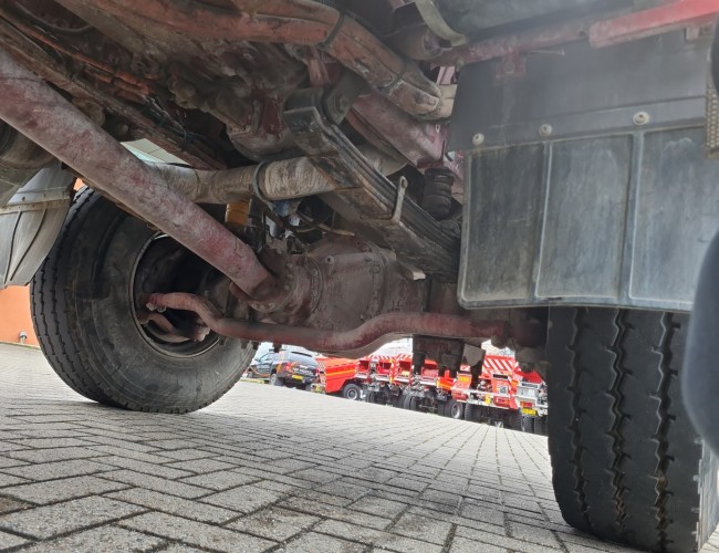
{"type": "Polygon", "coordinates": [[[33,324],[50,365],[79,394],[132,410],[187,413],[228,392],[253,349],[213,335],[161,344],[147,334],[133,298],[136,262],[153,248],[197,259],[83,189],[32,281],[33,324]]]}

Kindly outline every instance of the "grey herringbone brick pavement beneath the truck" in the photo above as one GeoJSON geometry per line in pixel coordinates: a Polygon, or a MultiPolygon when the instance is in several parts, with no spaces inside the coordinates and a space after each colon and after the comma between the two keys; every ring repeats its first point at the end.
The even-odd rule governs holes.
{"type": "Polygon", "coordinates": [[[14,549],[629,551],[562,521],[539,436],[250,383],[200,413],[127,413],[0,345],[0,550],[14,549]]]}

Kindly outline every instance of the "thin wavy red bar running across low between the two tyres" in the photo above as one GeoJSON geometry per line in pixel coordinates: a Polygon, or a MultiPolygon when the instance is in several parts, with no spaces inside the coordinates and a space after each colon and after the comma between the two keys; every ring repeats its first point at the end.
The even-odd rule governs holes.
{"type": "Polygon", "coordinates": [[[228,319],[208,300],[195,294],[150,294],[147,302],[156,307],[191,311],[210,330],[222,336],[292,344],[317,352],[357,351],[389,334],[502,340],[508,334],[504,322],[473,322],[466,317],[438,313],[388,313],[371,319],[351,331],[327,331],[228,319]]]}

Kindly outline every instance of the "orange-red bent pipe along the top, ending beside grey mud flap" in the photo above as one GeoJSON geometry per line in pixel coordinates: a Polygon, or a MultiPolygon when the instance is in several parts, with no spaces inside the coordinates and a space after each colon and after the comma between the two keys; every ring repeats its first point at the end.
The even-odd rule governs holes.
{"type": "MultiPolygon", "coordinates": [[[[72,10],[76,0],[61,0],[72,10]]],[[[179,33],[227,41],[316,46],[362,76],[407,113],[427,119],[451,115],[455,85],[438,85],[420,67],[387,48],[351,17],[316,0],[233,0],[240,12],[200,2],[93,0],[137,32],[157,38],[179,33]]]]}

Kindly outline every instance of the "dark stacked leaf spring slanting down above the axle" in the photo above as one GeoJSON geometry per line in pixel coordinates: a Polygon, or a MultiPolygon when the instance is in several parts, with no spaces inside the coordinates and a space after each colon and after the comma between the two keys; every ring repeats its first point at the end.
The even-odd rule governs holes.
{"type": "Polygon", "coordinates": [[[367,238],[392,248],[405,263],[439,280],[457,279],[459,236],[397,189],[321,113],[316,91],[302,91],[284,113],[298,146],[335,184],[323,196],[333,209],[352,220],[367,238]]]}

